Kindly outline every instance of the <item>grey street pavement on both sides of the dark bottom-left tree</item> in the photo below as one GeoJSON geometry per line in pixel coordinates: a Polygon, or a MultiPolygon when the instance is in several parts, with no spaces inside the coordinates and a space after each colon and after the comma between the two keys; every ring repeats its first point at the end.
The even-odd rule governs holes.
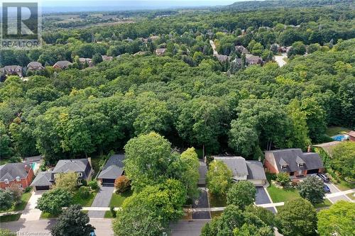
{"type": "MultiPolygon", "coordinates": [[[[18,220],[9,223],[1,223],[1,228],[16,232],[17,235],[50,235],[50,228],[53,227],[56,220],[36,220],[24,221],[18,220]]],[[[97,236],[114,235],[110,219],[90,219],[90,223],[96,227],[97,236]]]]}

